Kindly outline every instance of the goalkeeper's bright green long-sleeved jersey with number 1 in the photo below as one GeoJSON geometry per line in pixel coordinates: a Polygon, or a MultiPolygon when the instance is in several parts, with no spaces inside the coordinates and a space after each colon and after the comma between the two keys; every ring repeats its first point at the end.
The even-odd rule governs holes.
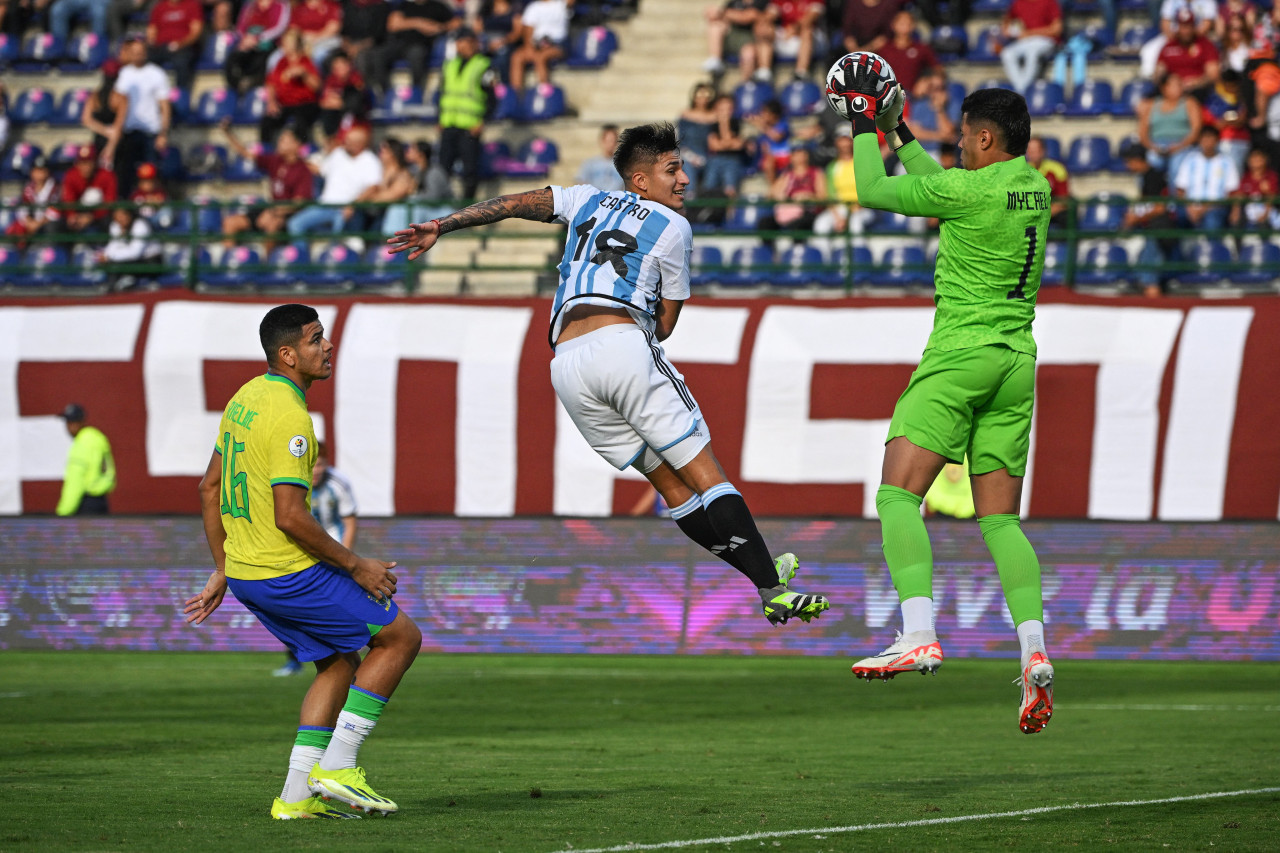
{"type": "Polygon", "coordinates": [[[1025,158],[943,170],[914,141],[899,158],[908,174],[886,177],[876,134],[854,138],[859,204],[942,220],[928,348],[1001,343],[1034,356],[1032,320],[1044,269],[1048,181],[1025,158]]]}

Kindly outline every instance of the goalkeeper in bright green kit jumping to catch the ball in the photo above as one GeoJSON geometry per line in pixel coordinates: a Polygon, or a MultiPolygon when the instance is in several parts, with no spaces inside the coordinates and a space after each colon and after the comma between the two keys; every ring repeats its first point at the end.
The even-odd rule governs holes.
{"type": "Polygon", "coordinates": [[[890,679],[942,665],[933,625],[933,555],[920,501],[947,462],[969,456],[978,526],[991,549],[1021,647],[1019,727],[1034,734],[1053,711],[1053,666],[1044,648],[1041,570],[1019,505],[1032,426],[1036,339],[1032,320],[1044,266],[1050,188],[1023,154],[1027,102],[986,88],[961,106],[961,169],[943,170],[901,120],[893,85],[877,95],[877,56],[850,58],[858,200],[868,207],[941,220],[933,333],[893,409],[876,493],[884,560],[902,608],[892,646],[854,665],[890,679]],[[886,177],[877,127],[908,174],[886,177]]]}

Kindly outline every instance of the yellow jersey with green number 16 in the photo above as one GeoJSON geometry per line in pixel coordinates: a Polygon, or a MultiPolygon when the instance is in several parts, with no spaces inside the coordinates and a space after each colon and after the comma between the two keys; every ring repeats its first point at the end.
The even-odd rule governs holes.
{"type": "Polygon", "coordinates": [[[316,435],[306,393],[273,373],[248,380],[227,403],[214,450],[223,457],[227,576],[265,580],[314,566],[317,560],[275,526],[271,492],[297,485],[311,506],[316,435]]]}

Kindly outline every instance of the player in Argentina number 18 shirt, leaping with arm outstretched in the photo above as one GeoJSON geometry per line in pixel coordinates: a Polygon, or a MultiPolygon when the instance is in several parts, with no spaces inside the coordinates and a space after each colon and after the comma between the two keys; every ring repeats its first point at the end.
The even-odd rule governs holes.
{"type": "Polygon", "coordinates": [[[690,539],[755,584],[771,622],[808,622],[828,608],[827,598],[787,587],[795,556],[769,556],[712,452],[698,402],[662,350],[689,298],[692,247],[680,215],[689,175],[675,128],[627,128],[613,165],[623,190],[545,187],[490,199],[397,232],[390,251],[413,260],[452,231],[511,216],[567,224],[548,336],[564,410],[605,461],[653,483],[690,539]]]}

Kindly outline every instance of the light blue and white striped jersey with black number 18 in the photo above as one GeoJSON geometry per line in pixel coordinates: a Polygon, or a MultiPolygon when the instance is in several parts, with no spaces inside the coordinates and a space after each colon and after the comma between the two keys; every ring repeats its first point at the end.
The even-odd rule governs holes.
{"type": "Polygon", "coordinates": [[[653,332],[659,298],[689,298],[694,234],[678,213],[634,192],[588,184],[552,187],[552,196],[556,222],[568,225],[552,304],[552,346],[570,302],[623,306],[653,332]]]}

